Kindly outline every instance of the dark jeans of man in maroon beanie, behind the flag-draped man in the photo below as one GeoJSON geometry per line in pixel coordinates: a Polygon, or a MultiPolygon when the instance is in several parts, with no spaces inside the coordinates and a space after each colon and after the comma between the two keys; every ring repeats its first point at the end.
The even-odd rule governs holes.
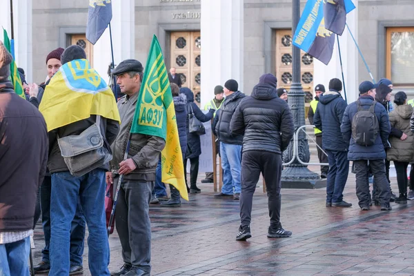
{"type": "MultiPolygon", "coordinates": [[[[45,248],[41,250],[43,262],[50,262],[50,193],[52,189],[52,177],[46,176],[40,186],[40,206],[41,221],[43,224],[43,233],[45,237],[45,248]]],[[[83,246],[85,240],[86,221],[83,217],[81,204],[77,201],[77,210],[75,218],[72,221],[70,229],[70,265],[81,266],[83,263],[83,246]]]]}

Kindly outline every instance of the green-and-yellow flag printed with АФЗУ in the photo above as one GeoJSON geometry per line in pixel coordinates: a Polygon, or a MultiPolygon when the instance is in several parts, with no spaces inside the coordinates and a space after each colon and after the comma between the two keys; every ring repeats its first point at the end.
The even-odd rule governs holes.
{"type": "Polygon", "coordinates": [[[181,197],[188,200],[174,101],[164,57],[155,36],[139,90],[131,133],[153,135],[166,140],[161,152],[161,180],[175,186],[181,197]]]}

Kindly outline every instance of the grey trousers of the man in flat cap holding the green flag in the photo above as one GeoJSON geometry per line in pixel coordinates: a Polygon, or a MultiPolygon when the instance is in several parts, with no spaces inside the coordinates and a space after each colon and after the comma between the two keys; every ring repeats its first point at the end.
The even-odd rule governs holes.
{"type": "MultiPolygon", "coordinates": [[[[118,182],[115,177],[114,183],[118,182]]],[[[114,186],[114,189],[117,187],[114,186]]],[[[115,225],[124,263],[151,272],[150,200],[154,182],[124,180],[115,211],[115,225]]],[[[115,193],[114,193],[115,195],[115,193]]]]}

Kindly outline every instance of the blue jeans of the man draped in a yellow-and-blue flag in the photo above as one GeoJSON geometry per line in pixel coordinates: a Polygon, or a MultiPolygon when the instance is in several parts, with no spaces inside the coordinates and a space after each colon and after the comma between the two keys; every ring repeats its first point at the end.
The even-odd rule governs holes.
{"type": "Polygon", "coordinates": [[[95,169],[81,177],[70,172],[52,174],[50,195],[50,276],[69,274],[70,229],[79,197],[88,225],[89,269],[109,275],[109,244],[105,217],[105,171],[95,169]]]}

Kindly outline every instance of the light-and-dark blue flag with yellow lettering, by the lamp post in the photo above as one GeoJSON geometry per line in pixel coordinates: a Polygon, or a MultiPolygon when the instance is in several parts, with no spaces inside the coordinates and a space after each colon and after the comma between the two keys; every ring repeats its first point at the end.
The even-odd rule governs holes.
{"type": "Polygon", "coordinates": [[[323,0],[306,2],[293,36],[293,45],[325,64],[331,61],[335,34],[325,28],[323,0]]]}

